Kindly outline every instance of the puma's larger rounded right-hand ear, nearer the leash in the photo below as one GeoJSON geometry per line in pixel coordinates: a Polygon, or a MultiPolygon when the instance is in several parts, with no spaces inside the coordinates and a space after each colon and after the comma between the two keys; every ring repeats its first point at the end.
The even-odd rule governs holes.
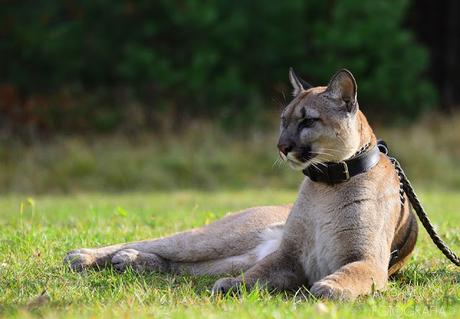
{"type": "Polygon", "coordinates": [[[342,69],[334,74],[327,85],[328,92],[345,102],[348,112],[356,110],[357,90],[356,80],[347,69],[342,69]]]}

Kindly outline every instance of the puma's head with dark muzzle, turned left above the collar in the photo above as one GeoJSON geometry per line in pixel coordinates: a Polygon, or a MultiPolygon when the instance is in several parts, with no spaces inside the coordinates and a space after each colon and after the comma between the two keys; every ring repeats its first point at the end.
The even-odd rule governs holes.
{"type": "Polygon", "coordinates": [[[340,162],[375,140],[359,111],[357,84],[348,70],[340,70],[324,87],[312,87],[292,68],[289,79],[294,99],[281,114],[278,149],[294,169],[340,162]]]}

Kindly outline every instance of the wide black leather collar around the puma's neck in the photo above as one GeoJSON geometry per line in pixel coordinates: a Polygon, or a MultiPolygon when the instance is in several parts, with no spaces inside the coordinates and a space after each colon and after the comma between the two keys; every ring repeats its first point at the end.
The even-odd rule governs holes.
{"type": "Polygon", "coordinates": [[[303,173],[314,182],[322,182],[330,185],[338,184],[348,181],[353,176],[367,172],[377,165],[379,160],[380,150],[376,145],[363,153],[358,153],[350,159],[339,163],[310,165],[303,170],[303,173]]]}

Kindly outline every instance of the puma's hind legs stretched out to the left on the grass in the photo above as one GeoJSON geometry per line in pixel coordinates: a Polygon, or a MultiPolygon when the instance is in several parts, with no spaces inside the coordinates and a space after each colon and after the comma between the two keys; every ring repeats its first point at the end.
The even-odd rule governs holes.
{"type": "MultiPolygon", "coordinates": [[[[222,273],[218,270],[231,269],[232,262],[238,260],[238,256],[245,256],[243,264],[250,264],[251,258],[246,258],[248,253],[251,256],[250,252],[263,244],[263,234],[267,230],[269,231],[275,225],[284,224],[289,211],[290,206],[250,208],[227,215],[205,227],[169,237],[73,250],[67,254],[65,262],[77,271],[91,267],[103,267],[110,265],[113,261],[120,266],[120,255],[115,260],[114,257],[119,252],[121,254],[122,251],[125,251],[122,254],[123,258],[125,261],[133,260],[131,264],[135,264],[135,260],[140,263],[143,259],[148,259],[146,254],[153,254],[160,257],[164,263],[169,263],[168,266],[159,267],[160,270],[222,273]],[[234,257],[234,259],[226,259],[228,257],[234,257]]],[[[122,264],[127,263],[129,262],[122,264]]],[[[143,262],[143,264],[149,263],[143,262]]],[[[124,266],[119,268],[124,268],[124,266]]]]}

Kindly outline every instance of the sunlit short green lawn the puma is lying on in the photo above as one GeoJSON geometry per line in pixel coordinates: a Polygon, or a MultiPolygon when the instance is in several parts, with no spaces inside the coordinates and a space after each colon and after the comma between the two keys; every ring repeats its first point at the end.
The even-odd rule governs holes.
{"type": "MultiPolygon", "coordinates": [[[[266,291],[212,298],[209,289],[216,278],[210,277],[141,276],[111,269],[78,274],[62,264],[65,252],[73,248],[163,236],[209,223],[227,211],[287,203],[295,196],[294,191],[276,189],[4,195],[0,198],[0,317],[460,318],[460,272],[423,229],[409,265],[387,291],[321,306],[294,294],[266,291]],[[49,300],[34,301],[44,290],[49,300]]],[[[459,253],[460,192],[424,192],[421,197],[442,237],[459,253]]]]}

